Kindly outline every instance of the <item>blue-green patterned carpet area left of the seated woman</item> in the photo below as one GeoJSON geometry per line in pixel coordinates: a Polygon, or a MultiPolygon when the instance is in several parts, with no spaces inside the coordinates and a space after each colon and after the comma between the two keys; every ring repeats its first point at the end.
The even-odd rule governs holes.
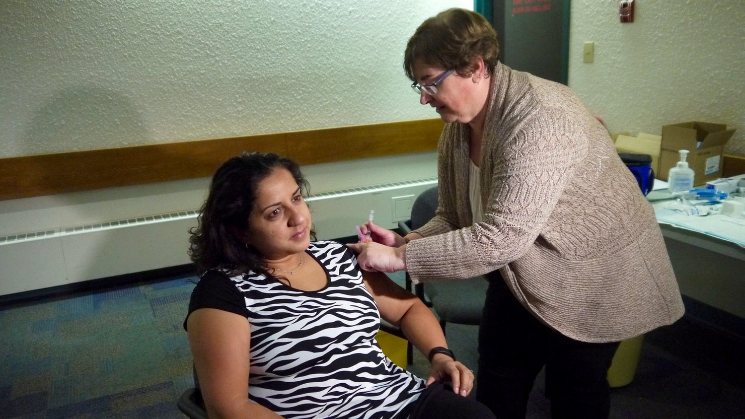
{"type": "Polygon", "coordinates": [[[0,310],[0,418],[183,418],[195,280],[0,310]]]}

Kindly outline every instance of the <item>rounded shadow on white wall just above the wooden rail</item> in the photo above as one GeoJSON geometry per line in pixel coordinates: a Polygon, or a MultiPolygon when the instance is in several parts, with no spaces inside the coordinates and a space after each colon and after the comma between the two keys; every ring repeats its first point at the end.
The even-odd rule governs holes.
{"type": "Polygon", "coordinates": [[[145,119],[131,99],[100,86],[63,90],[22,135],[24,155],[147,144],[145,119]]]}

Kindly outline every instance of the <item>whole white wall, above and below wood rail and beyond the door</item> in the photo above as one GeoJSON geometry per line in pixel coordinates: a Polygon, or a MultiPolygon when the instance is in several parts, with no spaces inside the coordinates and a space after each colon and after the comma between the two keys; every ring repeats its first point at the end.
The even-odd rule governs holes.
{"type": "MultiPolygon", "coordinates": [[[[425,17],[472,7],[174,3],[0,0],[0,157],[432,118],[408,89],[403,45],[425,17]],[[254,38],[274,44],[240,48],[254,38]]],[[[738,128],[730,144],[743,144],[742,1],[637,3],[636,22],[621,25],[616,0],[572,1],[571,88],[612,131],[659,133],[663,124],[706,119],[738,128]],[[594,64],[582,63],[583,41],[596,42],[594,64]]],[[[314,192],[418,179],[434,176],[434,153],[305,171],[314,192]]],[[[0,201],[0,235],[195,209],[206,184],[0,201]]]]}

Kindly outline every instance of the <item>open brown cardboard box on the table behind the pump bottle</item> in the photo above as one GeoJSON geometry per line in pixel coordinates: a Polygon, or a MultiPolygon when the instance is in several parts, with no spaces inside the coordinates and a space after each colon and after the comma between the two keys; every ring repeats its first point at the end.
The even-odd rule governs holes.
{"type": "Polygon", "coordinates": [[[659,158],[658,179],[668,180],[670,168],[675,166],[679,150],[688,150],[688,167],[694,170],[694,186],[722,177],[724,144],[735,134],[726,124],[689,121],[662,127],[662,151],[659,158]]]}

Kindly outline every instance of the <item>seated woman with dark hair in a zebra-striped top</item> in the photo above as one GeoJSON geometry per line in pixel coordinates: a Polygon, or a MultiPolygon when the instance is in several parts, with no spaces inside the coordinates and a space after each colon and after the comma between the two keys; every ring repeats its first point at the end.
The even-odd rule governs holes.
{"type": "Polygon", "coordinates": [[[472,371],[418,298],[362,272],[346,246],[311,241],[305,191],[298,165],[271,153],[229,159],[212,178],[184,322],[209,417],[493,418],[464,397],[472,371]],[[430,355],[426,381],[382,353],[381,317],[430,355]]]}

